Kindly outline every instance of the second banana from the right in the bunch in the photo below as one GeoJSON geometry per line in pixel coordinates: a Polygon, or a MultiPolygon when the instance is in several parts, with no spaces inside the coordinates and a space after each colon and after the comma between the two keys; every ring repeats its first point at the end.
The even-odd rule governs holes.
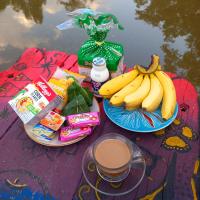
{"type": "Polygon", "coordinates": [[[148,96],[142,102],[142,108],[144,108],[148,112],[155,111],[163,97],[163,88],[158,80],[158,78],[154,74],[150,74],[150,82],[151,89],[148,96]]]}

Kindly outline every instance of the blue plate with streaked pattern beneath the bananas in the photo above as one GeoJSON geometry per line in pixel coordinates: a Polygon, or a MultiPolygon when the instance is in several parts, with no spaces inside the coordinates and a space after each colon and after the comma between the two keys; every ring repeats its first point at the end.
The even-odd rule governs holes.
{"type": "Polygon", "coordinates": [[[146,112],[142,109],[128,111],[122,106],[111,106],[109,100],[104,99],[103,107],[113,123],[135,132],[154,132],[163,129],[169,126],[178,114],[178,104],[176,104],[173,116],[166,121],[161,117],[161,106],[154,112],[146,112]]]}

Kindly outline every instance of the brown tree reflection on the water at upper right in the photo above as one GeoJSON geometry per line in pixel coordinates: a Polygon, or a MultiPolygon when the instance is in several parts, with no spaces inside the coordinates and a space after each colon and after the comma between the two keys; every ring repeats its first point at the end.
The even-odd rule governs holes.
{"type": "Polygon", "coordinates": [[[159,27],[164,36],[164,65],[200,86],[200,1],[135,0],[136,17],[159,27]],[[181,40],[181,42],[179,42],[181,40]],[[178,43],[179,48],[174,44],[178,43]]]}

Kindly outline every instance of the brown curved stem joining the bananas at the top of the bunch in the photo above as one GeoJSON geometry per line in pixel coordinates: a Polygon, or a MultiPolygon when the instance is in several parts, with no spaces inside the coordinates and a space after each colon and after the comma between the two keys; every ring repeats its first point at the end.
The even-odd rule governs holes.
{"type": "Polygon", "coordinates": [[[151,56],[151,64],[148,66],[148,69],[145,69],[143,66],[140,65],[136,65],[135,67],[142,74],[151,74],[157,70],[159,62],[160,62],[159,56],[154,54],[151,56]]]}

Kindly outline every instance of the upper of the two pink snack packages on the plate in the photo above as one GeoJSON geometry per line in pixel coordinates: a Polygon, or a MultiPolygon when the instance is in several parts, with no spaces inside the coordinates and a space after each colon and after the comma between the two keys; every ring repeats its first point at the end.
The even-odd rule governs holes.
{"type": "Polygon", "coordinates": [[[66,117],[66,119],[69,125],[73,127],[96,126],[100,124],[98,112],[69,115],[66,117]]]}

